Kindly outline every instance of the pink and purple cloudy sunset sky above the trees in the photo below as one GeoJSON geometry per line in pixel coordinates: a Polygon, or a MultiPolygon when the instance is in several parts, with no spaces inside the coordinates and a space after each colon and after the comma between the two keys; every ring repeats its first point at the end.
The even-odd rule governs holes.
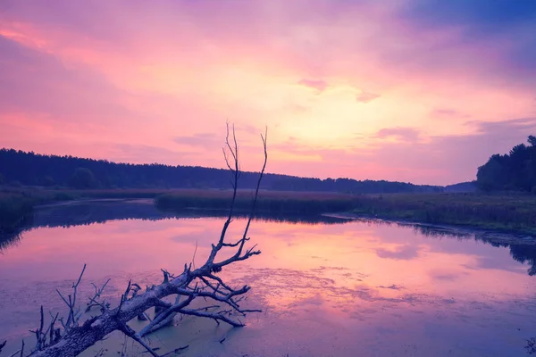
{"type": "Polygon", "coordinates": [[[536,0],[0,2],[0,146],[447,185],[536,135],[536,0]]]}

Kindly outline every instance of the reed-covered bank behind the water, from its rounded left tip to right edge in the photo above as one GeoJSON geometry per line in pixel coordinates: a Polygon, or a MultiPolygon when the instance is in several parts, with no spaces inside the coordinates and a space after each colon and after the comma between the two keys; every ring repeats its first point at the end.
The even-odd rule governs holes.
{"type": "MultiPolygon", "coordinates": [[[[159,195],[155,203],[166,210],[228,209],[230,195],[230,191],[178,190],[159,195]]],[[[239,192],[236,208],[249,209],[251,198],[251,192],[239,192]]],[[[259,194],[257,211],[277,215],[351,212],[366,217],[536,234],[536,195],[343,195],[263,191],[259,194]]]]}

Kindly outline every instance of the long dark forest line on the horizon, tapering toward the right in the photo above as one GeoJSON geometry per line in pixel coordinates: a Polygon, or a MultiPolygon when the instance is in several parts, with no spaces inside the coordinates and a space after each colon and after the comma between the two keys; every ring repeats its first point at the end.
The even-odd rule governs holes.
{"type": "MultiPolygon", "coordinates": [[[[258,173],[243,172],[239,186],[254,188],[258,173]]],[[[230,172],[199,166],[130,164],[0,149],[0,185],[74,188],[229,188],[230,172]]],[[[442,187],[404,182],[312,179],[267,174],[264,189],[348,193],[435,192],[442,187]]]]}

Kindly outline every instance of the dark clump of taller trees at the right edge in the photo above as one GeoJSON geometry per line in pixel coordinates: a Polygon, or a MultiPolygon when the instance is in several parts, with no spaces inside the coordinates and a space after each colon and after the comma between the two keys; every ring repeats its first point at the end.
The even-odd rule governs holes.
{"type": "Polygon", "coordinates": [[[494,154],[478,168],[477,186],[484,191],[525,191],[536,194],[536,137],[515,145],[509,154],[494,154]]]}

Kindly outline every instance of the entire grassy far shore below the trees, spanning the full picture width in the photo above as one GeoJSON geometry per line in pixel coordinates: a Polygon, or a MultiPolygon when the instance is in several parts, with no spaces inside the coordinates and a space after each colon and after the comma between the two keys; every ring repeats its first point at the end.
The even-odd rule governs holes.
{"type": "MultiPolygon", "coordinates": [[[[164,211],[230,208],[232,191],[219,189],[49,190],[0,187],[0,232],[24,223],[42,204],[88,199],[147,199],[164,211]]],[[[253,193],[241,190],[235,208],[248,211],[253,193]]],[[[343,213],[347,217],[400,220],[432,225],[481,228],[536,236],[536,195],[523,194],[384,194],[261,191],[257,212],[268,214],[343,213]]]]}

